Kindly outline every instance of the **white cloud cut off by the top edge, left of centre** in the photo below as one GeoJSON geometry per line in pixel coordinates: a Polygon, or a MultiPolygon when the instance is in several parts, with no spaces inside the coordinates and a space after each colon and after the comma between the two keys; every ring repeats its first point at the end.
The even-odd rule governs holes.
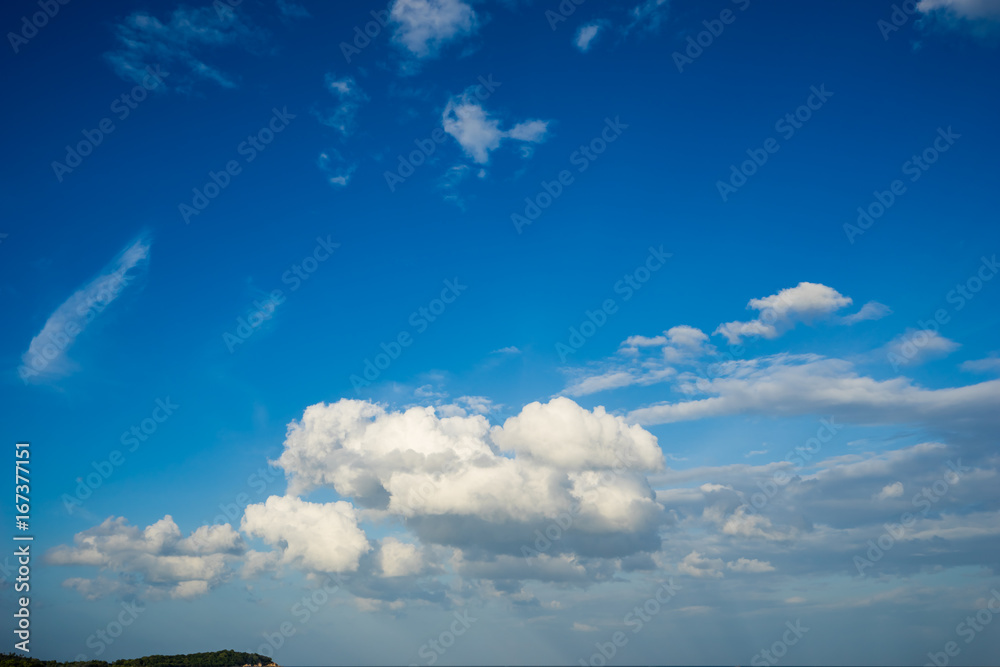
{"type": "Polygon", "coordinates": [[[445,44],[473,34],[479,18],[462,0],[395,0],[389,8],[393,40],[417,58],[433,58],[445,44]]]}

